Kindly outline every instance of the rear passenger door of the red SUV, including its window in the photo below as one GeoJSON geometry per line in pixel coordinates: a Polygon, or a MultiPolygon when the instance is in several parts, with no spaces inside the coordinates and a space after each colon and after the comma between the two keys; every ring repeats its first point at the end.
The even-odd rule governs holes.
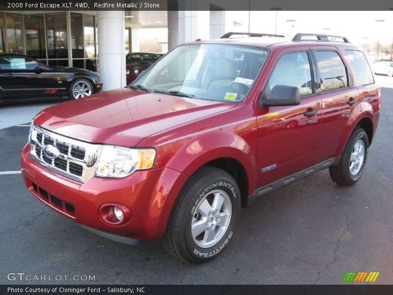
{"type": "Polygon", "coordinates": [[[344,58],[334,46],[311,46],[322,102],[321,136],[316,163],[337,156],[348,119],[360,103],[359,91],[344,58]]]}

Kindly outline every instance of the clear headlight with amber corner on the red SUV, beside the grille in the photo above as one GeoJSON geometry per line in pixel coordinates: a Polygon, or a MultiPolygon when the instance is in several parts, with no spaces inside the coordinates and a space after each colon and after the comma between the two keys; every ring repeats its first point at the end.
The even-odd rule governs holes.
{"type": "Polygon", "coordinates": [[[126,177],[136,170],[150,169],[156,157],[155,149],[102,146],[95,176],[126,177]]]}

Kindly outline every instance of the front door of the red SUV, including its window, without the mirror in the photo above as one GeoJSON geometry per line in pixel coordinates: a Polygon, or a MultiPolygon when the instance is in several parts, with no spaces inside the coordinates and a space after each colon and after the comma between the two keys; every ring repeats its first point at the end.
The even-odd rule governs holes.
{"type": "Polygon", "coordinates": [[[315,92],[308,46],[283,49],[273,58],[262,95],[276,85],[297,87],[296,106],[255,106],[258,128],[257,187],[313,165],[321,124],[321,103],[315,92]]]}

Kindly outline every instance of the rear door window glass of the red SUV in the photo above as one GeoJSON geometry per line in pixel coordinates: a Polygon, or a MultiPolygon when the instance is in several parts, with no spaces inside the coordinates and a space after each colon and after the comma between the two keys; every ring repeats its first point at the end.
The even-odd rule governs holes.
{"type": "Polygon", "coordinates": [[[334,90],[348,86],[347,71],[336,51],[315,51],[321,91],[334,90]]]}

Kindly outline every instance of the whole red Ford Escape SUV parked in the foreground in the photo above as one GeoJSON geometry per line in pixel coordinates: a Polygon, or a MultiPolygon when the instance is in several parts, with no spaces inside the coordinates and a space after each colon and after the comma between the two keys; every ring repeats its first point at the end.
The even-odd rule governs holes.
{"type": "Polygon", "coordinates": [[[96,234],[163,236],[172,255],[202,263],[255,198],[325,168],[357,182],[380,111],[362,50],[337,36],[229,35],[39,113],[22,153],[28,190],[96,234]]]}

